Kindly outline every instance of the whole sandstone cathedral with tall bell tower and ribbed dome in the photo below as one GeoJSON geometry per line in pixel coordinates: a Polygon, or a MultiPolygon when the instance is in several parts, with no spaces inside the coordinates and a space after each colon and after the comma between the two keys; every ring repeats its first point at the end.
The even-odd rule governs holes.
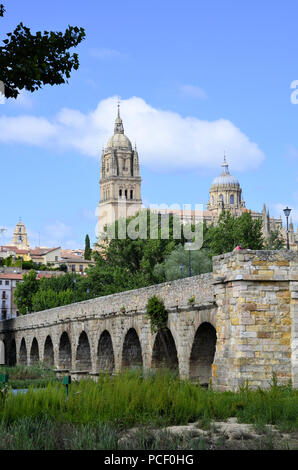
{"type": "MultiPolygon", "coordinates": [[[[222,171],[212,181],[209,190],[209,201],[206,210],[150,209],[154,213],[171,213],[180,218],[182,223],[206,221],[207,225],[216,224],[222,211],[229,211],[238,217],[250,212],[253,218],[262,218],[265,238],[275,230],[280,230],[286,240],[286,229],[282,219],[270,217],[264,204],[262,212],[249,210],[242,197],[242,188],[237,178],[231,175],[226,157],[222,171]]],[[[98,205],[98,237],[102,237],[104,227],[111,225],[119,218],[134,216],[142,209],[141,177],[138,152],[132,148],[129,138],[124,134],[123,121],[118,115],[115,121],[114,134],[103,148],[100,166],[100,202],[98,205]]],[[[289,224],[289,241],[291,249],[298,249],[298,230],[294,232],[292,221],[289,224]]]]}

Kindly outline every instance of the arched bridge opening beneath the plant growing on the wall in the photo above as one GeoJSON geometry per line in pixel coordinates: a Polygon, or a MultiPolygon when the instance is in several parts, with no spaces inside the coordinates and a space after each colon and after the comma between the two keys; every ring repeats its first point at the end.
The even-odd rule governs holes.
{"type": "Polygon", "coordinates": [[[175,341],[169,328],[159,330],[156,335],[151,365],[156,368],[164,367],[172,370],[179,367],[175,341]]]}

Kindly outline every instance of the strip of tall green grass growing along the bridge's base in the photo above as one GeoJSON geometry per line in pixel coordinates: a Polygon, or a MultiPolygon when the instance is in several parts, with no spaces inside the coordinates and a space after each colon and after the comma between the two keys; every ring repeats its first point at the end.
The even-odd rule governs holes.
{"type": "Polygon", "coordinates": [[[272,384],[268,390],[217,392],[169,372],[126,371],[101,375],[98,383],[73,383],[69,397],[61,383],[14,396],[9,392],[0,403],[0,422],[10,425],[25,418],[49,419],[79,426],[112,425],[127,429],[135,425],[167,426],[201,420],[237,417],[239,422],[261,427],[274,424],[283,430],[298,429],[298,390],[272,384]]]}

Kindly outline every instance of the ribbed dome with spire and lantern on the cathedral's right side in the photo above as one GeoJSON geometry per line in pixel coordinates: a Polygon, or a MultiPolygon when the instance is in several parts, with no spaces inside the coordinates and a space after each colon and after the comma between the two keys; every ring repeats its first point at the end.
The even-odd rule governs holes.
{"type": "Polygon", "coordinates": [[[229,211],[232,215],[241,215],[245,202],[242,200],[240,183],[230,174],[226,157],[221,166],[223,171],[213,180],[209,191],[207,209],[214,216],[219,216],[223,210],[229,211]]]}

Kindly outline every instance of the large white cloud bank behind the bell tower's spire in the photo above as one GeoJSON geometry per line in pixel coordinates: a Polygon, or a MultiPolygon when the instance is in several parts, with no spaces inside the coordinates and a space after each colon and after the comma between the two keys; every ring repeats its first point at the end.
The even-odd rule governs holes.
{"type": "MultiPolygon", "coordinates": [[[[113,134],[117,97],[90,113],[63,108],[49,120],[23,115],[0,118],[0,142],[75,149],[98,158],[113,134]]],[[[258,145],[227,119],[206,121],[153,108],[142,98],[121,102],[126,135],[138,144],[141,165],[151,169],[218,168],[224,150],[234,171],[257,168],[265,158],[258,145]]]]}

